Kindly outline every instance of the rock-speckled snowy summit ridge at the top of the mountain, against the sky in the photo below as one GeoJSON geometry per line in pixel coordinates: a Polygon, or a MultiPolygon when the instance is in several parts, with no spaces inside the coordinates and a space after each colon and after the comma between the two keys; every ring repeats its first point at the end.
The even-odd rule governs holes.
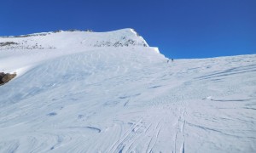
{"type": "Polygon", "coordinates": [[[19,37],[1,37],[0,50],[91,47],[148,47],[148,43],[132,29],[109,32],[60,31],[19,37]]]}

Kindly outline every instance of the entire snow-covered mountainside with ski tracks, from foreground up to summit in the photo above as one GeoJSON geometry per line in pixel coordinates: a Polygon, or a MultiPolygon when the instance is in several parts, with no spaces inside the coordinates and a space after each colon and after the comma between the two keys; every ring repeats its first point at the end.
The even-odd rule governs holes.
{"type": "Polygon", "coordinates": [[[0,152],[256,152],[256,54],[168,61],[131,29],[0,38],[0,152]],[[8,43],[7,43],[8,42],[8,43]]]}

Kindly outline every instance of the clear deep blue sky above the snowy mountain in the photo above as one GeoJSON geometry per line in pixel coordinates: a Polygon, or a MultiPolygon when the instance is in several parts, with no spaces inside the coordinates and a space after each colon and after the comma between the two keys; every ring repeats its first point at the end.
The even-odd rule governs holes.
{"type": "Polygon", "coordinates": [[[256,0],[0,0],[0,36],[134,28],[166,57],[256,54],[256,0]]]}

